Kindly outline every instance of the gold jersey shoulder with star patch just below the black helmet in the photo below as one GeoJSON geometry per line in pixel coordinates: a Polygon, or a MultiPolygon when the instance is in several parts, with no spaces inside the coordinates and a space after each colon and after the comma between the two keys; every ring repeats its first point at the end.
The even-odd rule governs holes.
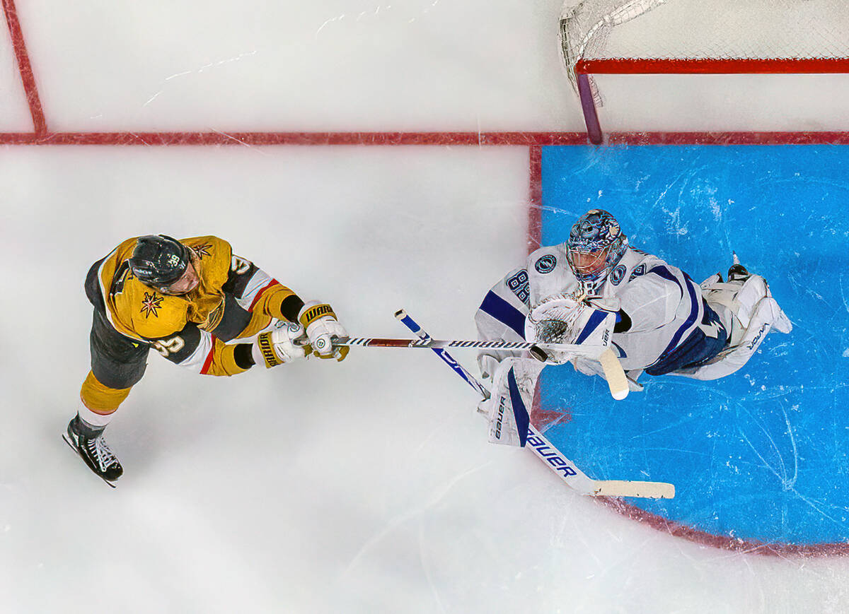
{"type": "Polygon", "coordinates": [[[186,301],[166,296],[129,276],[115,295],[115,312],[131,332],[145,339],[159,339],[183,330],[187,320],[186,301]]]}

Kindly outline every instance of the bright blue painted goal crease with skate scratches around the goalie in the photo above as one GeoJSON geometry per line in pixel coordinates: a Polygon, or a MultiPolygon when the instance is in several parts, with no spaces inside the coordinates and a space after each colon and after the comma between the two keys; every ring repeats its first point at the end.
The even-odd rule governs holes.
{"type": "Polygon", "coordinates": [[[543,244],[599,207],[633,246],[697,281],[727,270],[734,250],[796,326],[729,377],[643,376],[644,393],[618,403],[604,382],[549,368],[541,410],[572,411],[548,438],[599,479],[675,483],[674,500],[607,502],[666,532],[766,554],[849,553],[849,148],[552,147],[542,163],[543,244]]]}

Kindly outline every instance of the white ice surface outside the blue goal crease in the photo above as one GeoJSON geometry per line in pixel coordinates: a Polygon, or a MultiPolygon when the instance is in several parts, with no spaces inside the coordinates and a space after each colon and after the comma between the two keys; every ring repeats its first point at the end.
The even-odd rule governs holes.
{"type": "MultiPolygon", "coordinates": [[[[549,0],[17,5],[56,131],[582,128],[549,0]]],[[[0,53],[0,130],[31,131],[0,53]]],[[[668,87],[638,80],[640,101],[668,87]]],[[[845,77],[817,82],[817,109],[783,94],[798,114],[706,119],[685,88],[670,113],[602,121],[845,128],[845,77]]],[[[526,253],[527,201],[521,147],[0,148],[0,611],[846,611],[846,560],[673,538],[487,444],[425,350],[228,379],[151,354],[107,432],[115,490],[60,440],[88,368],[83,276],[122,239],[217,234],[354,334],[406,336],[403,307],[465,338],[526,253]]]]}

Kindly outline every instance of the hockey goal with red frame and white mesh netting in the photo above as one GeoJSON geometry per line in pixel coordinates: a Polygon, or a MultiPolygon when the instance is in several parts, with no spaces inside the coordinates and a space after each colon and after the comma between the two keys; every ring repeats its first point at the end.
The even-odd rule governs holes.
{"type": "Polygon", "coordinates": [[[597,143],[591,75],[849,73],[849,0],[566,0],[559,36],[597,143]]]}

